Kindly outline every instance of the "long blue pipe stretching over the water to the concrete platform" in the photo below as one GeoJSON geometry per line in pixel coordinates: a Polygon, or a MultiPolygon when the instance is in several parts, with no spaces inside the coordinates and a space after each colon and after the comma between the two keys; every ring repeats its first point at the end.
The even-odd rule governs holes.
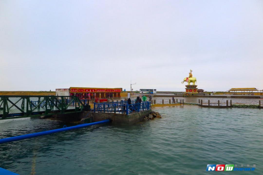
{"type": "Polygon", "coordinates": [[[76,126],[71,126],[71,127],[66,127],[66,128],[59,128],[59,129],[53,129],[53,130],[48,130],[48,131],[43,131],[43,132],[38,132],[38,133],[31,133],[31,134],[24,134],[24,135],[19,135],[19,136],[14,136],[14,137],[8,137],[8,138],[0,139],[0,144],[11,142],[11,141],[29,139],[32,137],[38,137],[38,136],[42,136],[42,135],[48,135],[48,134],[68,131],[68,130],[72,130],[72,129],[84,128],[84,127],[96,125],[96,124],[109,123],[109,122],[110,122],[110,120],[107,119],[107,120],[103,120],[103,121],[99,121],[99,122],[85,123],[85,124],[79,124],[76,126]]]}

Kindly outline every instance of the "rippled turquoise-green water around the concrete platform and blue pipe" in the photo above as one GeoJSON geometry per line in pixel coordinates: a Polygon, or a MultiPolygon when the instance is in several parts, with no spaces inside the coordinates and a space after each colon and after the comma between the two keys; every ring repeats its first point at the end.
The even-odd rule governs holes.
{"type": "MultiPolygon", "coordinates": [[[[262,174],[261,109],[185,105],[154,109],[162,119],[103,124],[0,145],[0,167],[29,174],[262,174]],[[255,171],[208,172],[207,164],[256,165],[255,171]]],[[[1,138],[64,123],[0,121],[1,138]]]]}

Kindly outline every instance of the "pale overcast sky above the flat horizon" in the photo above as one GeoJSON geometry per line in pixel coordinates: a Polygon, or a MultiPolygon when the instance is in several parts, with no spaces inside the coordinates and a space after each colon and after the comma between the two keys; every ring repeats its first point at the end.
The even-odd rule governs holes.
{"type": "Polygon", "coordinates": [[[262,0],[0,0],[0,91],[263,89],[262,0]]]}

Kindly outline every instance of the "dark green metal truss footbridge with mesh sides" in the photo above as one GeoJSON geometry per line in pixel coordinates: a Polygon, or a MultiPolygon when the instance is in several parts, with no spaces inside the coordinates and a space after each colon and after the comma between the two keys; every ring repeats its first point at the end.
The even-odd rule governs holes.
{"type": "Polygon", "coordinates": [[[79,112],[84,104],[76,96],[0,96],[0,117],[28,117],[79,112]]]}

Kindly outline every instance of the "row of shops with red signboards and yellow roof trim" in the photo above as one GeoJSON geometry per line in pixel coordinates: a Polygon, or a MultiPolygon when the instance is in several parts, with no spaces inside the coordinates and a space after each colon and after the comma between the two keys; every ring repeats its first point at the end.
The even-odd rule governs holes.
{"type": "Polygon", "coordinates": [[[56,89],[57,96],[77,96],[79,99],[105,99],[120,97],[122,88],[70,87],[56,89]]]}

